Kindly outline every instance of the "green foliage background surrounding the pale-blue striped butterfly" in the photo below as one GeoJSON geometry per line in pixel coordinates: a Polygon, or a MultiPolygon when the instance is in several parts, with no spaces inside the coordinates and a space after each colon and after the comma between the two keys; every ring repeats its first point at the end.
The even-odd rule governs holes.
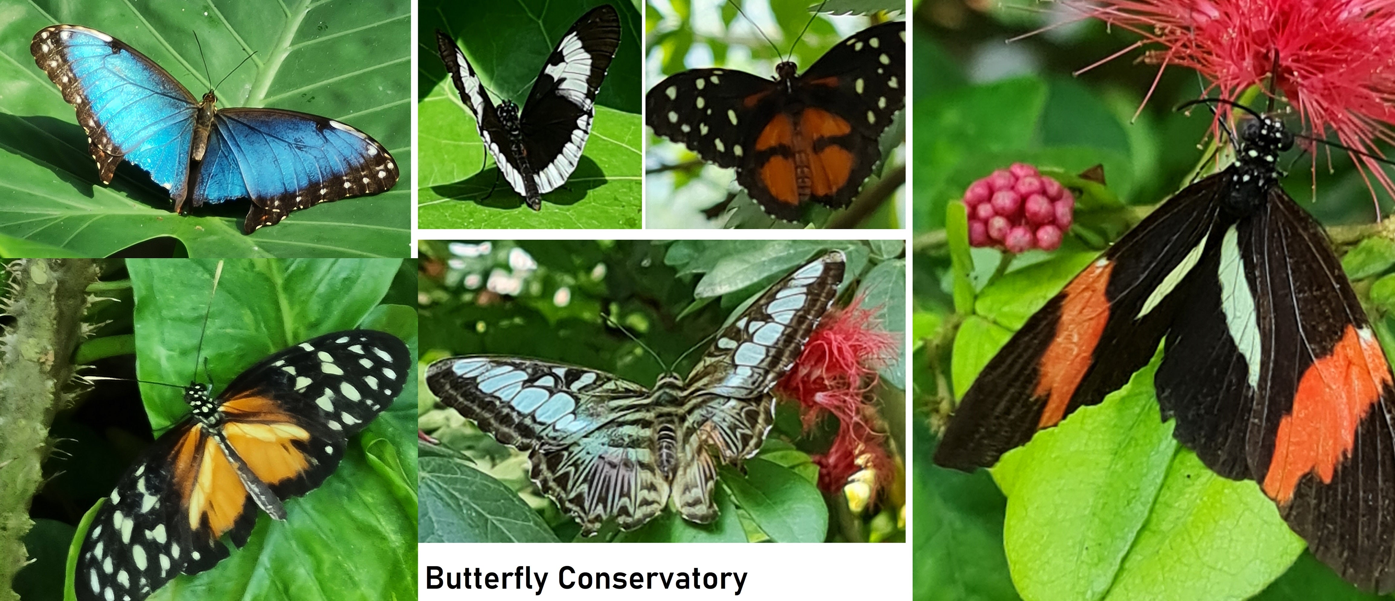
{"type": "MultiPolygon", "coordinates": [[[[848,271],[834,305],[852,296],[904,340],[904,244],[900,241],[423,241],[418,308],[421,365],[448,356],[502,354],[591,367],[651,386],[675,361],[686,374],[709,336],[744,303],[819,254],[838,248],[848,271]],[[607,322],[622,326],[653,349],[607,322]],[[693,350],[689,354],[685,351],[693,350]]],[[[900,349],[900,344],[897,344],[900,349]]],[[[894,361],[900,365],[900,350],[894,361]]],[[[904,370],[889,365],[876,388],[879,416],[900,463],[904,449],[904,370]],[[896,374],[894,378],[890,374],[896,374]]],[[[837,424],[804,432],[798,407],[781,402],[762,452],[746,474],[723,469],[714,488],[718,522],[695,526],[665,512],[594,538],[527,478],[527,457],[499,445],[421,388],[420,427],[439,441],[421,445],[421,531],[431,541],[897,541],[904,540],[904,478],[872,505],[850,509],[841,492],[815,488],[810,455],[826,452],[837,424]],[[480,473],[488,474],[481,477],[480,473]],[[760,491],[766,501],[749,492],[760,491]],[[739,508],[739,510],[738,510],[739,508]]],[[[854,503],[857,505],[857,503],[854,503]]]]}

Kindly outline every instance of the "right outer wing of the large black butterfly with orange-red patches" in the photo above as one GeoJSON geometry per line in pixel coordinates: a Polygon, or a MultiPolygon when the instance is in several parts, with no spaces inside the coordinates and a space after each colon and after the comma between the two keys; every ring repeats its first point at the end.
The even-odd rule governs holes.
{"type": "MultiPolygon", "coordinates": [[[[1395,378],[1385,353],[1327,234],[1282,188],[1240,223],[1237,240],[1253,273],[1267,400],[1222,439],[1247,442],[1249,477],[1314,556],[1366,590],[1389,591],[1395,378]]],[[[1179,417],[1177,431],[1190,428],[1179,417]]],[[[1197,443],[1198,455],[1215,446],[1197,443]]]]}

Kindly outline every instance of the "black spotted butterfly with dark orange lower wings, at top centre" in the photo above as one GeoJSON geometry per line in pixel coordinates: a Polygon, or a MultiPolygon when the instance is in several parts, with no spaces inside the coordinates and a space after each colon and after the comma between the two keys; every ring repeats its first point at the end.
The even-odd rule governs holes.
{"type": "Polygon", "coordinates": [[[877,137],[905,106],[905,22],[862,29],[805,73],[791,61],[766,79],[730,68],[668,77],[644,96],[656,134],[737,183],[771,216],[797,220],[806,201],[852,202],[882,159],[877,137]]]}

